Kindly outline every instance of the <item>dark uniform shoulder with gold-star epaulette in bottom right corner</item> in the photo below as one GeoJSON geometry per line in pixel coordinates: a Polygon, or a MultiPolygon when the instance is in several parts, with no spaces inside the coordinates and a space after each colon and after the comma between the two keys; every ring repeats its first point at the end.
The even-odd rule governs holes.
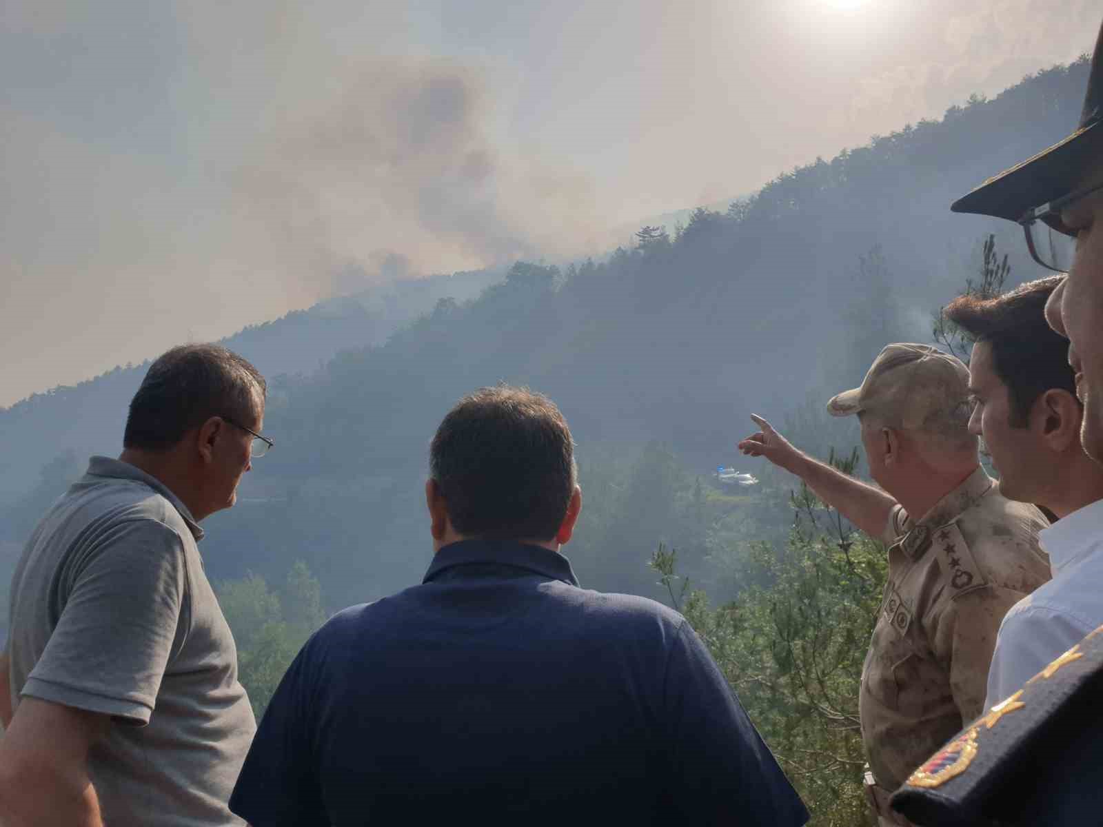
{"type": "Polygon", "coordinates": [[[920,765],[891,798],[927,827],[1099,824],[1103,627],[920,765]]]}

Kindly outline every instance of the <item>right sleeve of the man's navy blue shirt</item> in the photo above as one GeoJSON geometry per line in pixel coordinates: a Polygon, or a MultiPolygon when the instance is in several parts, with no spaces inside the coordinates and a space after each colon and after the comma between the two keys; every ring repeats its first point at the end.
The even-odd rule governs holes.
{"type": "Polygon", "coordinates": [[[667,660],[668,788],[683,824],[797,827],[808,812],[700,638],[683,622],[667,660]]]}

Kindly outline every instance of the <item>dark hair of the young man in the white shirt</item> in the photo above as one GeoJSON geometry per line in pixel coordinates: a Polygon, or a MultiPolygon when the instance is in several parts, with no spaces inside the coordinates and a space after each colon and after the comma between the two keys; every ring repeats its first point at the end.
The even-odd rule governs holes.
{"type": "Polygon", "coordinates": [[[996,375],[1010,395],[1010,425],[1026,428],[1030,406],[1051,388],[1075,396],[1069,341],[1046,322],[1046,301],[1063,276],[1029,281],[993,299],[959,296],[943,311],[976,342],[992,345],[996,375]]]}

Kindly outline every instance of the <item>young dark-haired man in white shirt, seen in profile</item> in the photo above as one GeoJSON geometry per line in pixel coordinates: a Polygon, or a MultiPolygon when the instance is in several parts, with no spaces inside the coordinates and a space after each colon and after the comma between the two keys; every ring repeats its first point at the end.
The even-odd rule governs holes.
{"type": "Polygon", "coordinates": [[[962,296],[945,310],[976,341],[970,430],[984,437],[1000,493],[1059,518],[1039,534],[1053,579],[999,626],[986,709],[1103,625],[1103,465],[1080,444],[1083,406],[1068,341],[1046,323],[1046,302],[1060,281],[1039,279],[987,300],[962,296]]]}

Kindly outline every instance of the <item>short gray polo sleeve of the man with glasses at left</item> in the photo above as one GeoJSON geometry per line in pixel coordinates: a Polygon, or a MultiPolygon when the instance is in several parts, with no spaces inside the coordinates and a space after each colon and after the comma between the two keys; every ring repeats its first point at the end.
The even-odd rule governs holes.
{"type": "Polygon", "coordinates": [[[183,540],[152,519],[120,523],[62,573],[61,614],[20,694],[149,722],[186,634],[183,540]]]}

